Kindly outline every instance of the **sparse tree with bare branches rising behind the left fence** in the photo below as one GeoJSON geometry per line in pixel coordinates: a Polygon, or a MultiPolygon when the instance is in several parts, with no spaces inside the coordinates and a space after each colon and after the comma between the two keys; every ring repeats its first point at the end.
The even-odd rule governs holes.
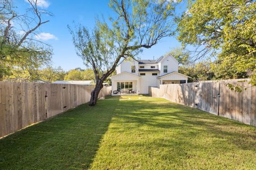
{"type": "Polygon", "coordinates": [[[12,0],[0,0],[0,80],[12,73],[13,66],[20,70],[29,67],[23,63],[26,59],[47,62],[51,56],[50,46],[35,37],[38,28],[49,22],[42,18],[52,14],[40,7],[39,0],[26,2],[26,12],[18,13],[12,0]]]}

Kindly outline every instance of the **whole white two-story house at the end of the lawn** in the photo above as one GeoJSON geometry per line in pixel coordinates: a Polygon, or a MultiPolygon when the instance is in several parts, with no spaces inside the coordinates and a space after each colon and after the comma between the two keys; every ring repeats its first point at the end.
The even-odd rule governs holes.
{"type": "Polygon", "coordinates": [[[179,63],[171,55],[157,60],[123,60],[111,77],[112,95],[148,94],[148,88],[159,84],[187,83],[188,76],[178,73],[179,63]]]}

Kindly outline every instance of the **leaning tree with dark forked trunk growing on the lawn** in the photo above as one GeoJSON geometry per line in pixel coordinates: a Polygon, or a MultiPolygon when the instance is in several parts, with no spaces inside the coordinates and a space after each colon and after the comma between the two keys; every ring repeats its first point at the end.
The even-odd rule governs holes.
{"type": "MultiPolygon", "coordinates": [[[[176,2],[176,1],[175,1],[176,2]]],[[[110,24],[97,20],[89,31],[82,25],[70,29],[77,54],[91,67],[95,88],[90,105],[97,103],[102,83],[122,58],[134,58],[141,48],[150,48],[164,37],[174,35],[174,5],[166,0],[111,0],[115,16],[110,24]]]]}

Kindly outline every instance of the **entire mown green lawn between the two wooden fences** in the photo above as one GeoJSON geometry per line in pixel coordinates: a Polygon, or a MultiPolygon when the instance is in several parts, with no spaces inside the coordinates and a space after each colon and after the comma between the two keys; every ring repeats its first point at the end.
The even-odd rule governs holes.
{"type": "Polygon", "coordinates": [[[256,128],[147,96],[82,105],[0,140],[0,169],[255,169],[256,128]]]}

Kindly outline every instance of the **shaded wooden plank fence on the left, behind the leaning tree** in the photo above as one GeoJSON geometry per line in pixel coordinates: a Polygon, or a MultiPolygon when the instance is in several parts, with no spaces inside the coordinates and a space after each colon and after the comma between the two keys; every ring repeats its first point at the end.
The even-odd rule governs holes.
{"type": "MultiPolygon", "coordinates": [[[[94,86],[0,81],[0,137],[90,101],[94,86]]],[[[99,97],[111,94],[104,87],[99,97]]]]}

